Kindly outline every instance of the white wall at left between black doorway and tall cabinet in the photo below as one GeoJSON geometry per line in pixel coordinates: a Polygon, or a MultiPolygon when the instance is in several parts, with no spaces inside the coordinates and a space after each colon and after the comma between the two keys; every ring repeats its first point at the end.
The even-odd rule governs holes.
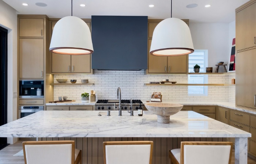
{"type": "MultiPolygon", "coordinates": [[[[7,95],[7,122],[17,118],[17,14],[16,10],[0,0],[0,26],[8,30],[8,95],[7,95]]],[[[12,144],[17,138],[8,138],[12,144]]]]}

